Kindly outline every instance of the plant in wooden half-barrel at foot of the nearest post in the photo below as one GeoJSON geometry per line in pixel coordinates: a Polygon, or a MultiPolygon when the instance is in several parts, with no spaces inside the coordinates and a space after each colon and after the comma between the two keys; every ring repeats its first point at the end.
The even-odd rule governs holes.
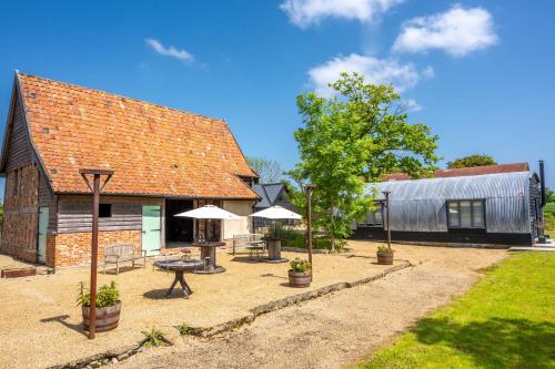
{"type": "MultiPolygon", "coordinates": [[[[83,314],[83,328],[89,330],[89,321],[91,314],[91,294],[85,290],[84,284],[81,281],[77,303],[81,306],[83,314]]],[[[97,320],[94,324],[97,331],[108,331],[118,327],[120,321],[121,300],[120,291],[112,280],[110,285],[103,285],[97,294],[97,320]]]]}

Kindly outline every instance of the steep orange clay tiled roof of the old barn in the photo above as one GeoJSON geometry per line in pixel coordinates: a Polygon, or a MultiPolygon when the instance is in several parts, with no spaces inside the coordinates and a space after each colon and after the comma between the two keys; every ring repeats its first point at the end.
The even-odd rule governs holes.
{"type": "Polygon", "coordinates": [[[18,73],[32,142],[57,193],[88,193],[79,168],[113,170],[111,194],[258,198],[224,121],[18,73]]]}

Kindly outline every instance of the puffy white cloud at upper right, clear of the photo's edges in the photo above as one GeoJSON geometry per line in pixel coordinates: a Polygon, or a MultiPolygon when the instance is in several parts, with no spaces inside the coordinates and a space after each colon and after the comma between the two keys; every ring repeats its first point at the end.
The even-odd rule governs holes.
{"type": "Polygon", "coordinates": [[[397,52],[425,52],[440,49],[454,57],[497,43],[492,14],[483,8],[453,6],[444,13],[407,21],[393,44],[397,52]]]}

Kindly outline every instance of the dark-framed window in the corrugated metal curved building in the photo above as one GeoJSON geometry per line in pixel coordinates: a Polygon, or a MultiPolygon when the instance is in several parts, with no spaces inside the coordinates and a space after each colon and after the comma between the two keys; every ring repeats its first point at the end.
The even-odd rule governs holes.
{"type": "Polygon", "coordinates": [[[454,199],[447,202],[450,228],[485,228],[483,199],[454,199]]]}

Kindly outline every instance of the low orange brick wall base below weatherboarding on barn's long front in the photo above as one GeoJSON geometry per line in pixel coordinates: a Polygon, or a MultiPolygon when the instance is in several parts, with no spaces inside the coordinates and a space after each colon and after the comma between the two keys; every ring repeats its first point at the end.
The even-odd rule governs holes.
{"type": "MultiPolygon", "coordinates": [[[[91,260],[91,236],[90,232],[62,233],[49,235],[47,238],[47,264],[49,266],[75,266],[87,265],[91,260]],[[52,245],[48,239],[52,239],[52,245]]],[[[102,263],[105,246],[115,244],[132,244],[135,253],[140,254],[142,248],[141,230],[100,230],[99,232],[99,263],[102,263]]]]}

